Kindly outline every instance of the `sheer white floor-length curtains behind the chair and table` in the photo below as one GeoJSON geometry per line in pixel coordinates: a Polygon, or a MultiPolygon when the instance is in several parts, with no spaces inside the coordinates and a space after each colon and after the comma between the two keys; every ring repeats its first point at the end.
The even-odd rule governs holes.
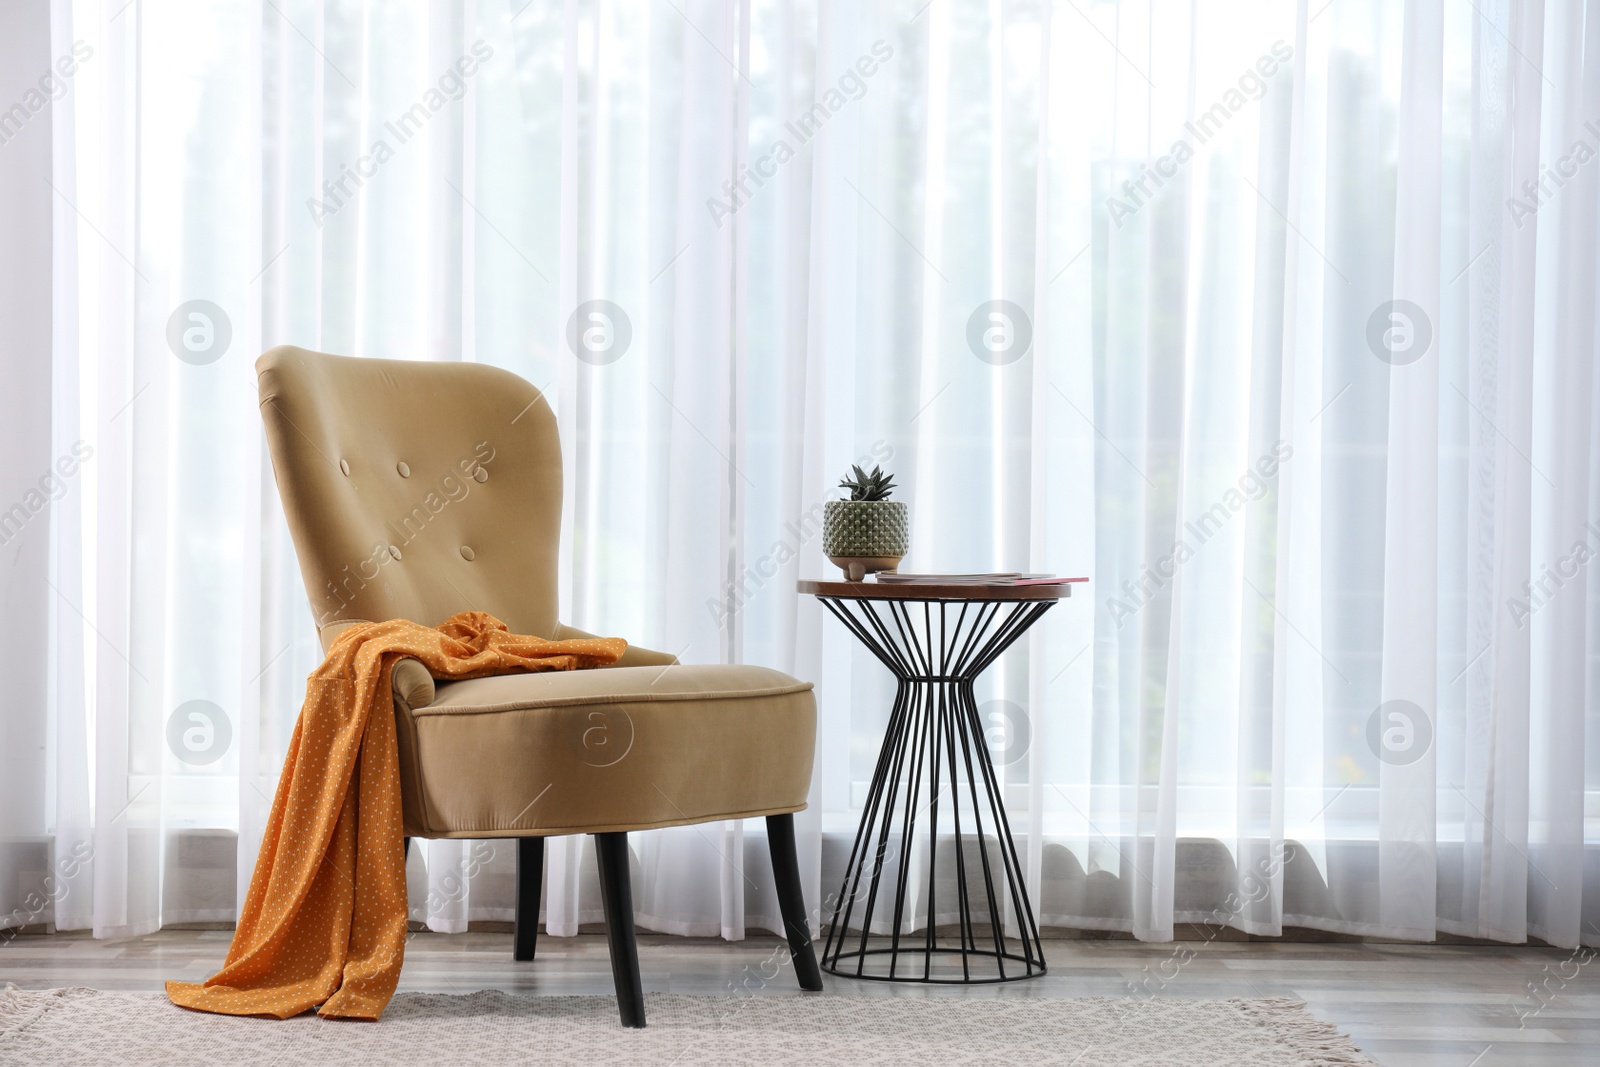
{"type": "MultiPolygon", "coordinates": [[[[1597,14],[54,0],[50,450],[93,458],[6,592],[50,769],[0,785],[0,926],[235,913],[318,657],[290,342],[549,392],[566,617],[818,681],[816,904],[891,693],[795,579],[862,461],[907,568],[1091,577],[979,696],[1043,923],[1600,944],[1597,14]]],[[[758,824],[634,848],[646,928],[778,928],[758,824]]],[[[552,933],[592,867],[554,846],[552,933]]],[[[504,843],[411,872],[510,918],[504,843]]]]}

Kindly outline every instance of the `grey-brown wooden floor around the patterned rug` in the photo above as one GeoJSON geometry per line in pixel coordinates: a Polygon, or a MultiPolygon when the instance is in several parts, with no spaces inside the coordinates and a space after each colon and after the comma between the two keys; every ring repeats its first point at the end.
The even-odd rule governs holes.
{"type": "MultiPolygon", "coordinates": [[[[131,941],[22,934],[0,947],[0,982],[160,990],[200,981],[227,952],[226,929],[166,929],[131,941]]],[[[843,997],[1296,997],[1386,1067],[1600,1064],[1600,965],[1592,952],[1534,947],[1045,941],[1050,973],[1005,987],[891,985],[824,974],[843,997]],[[1192,957],[1190,957],[1192,953],[1192,957]],[[1534,995],[1533,987],[1542,992],[1534,995]],[[1134,992],[1146,990],[1146,992],[1134,992]]],[[[800,995],[779,941],[742,944],[640,934],[646,992],[800,995]]],[[[539,937],[514,963],[510,934],[418,933],[403,990],[611,993],[605,937],[539,937]]]]}

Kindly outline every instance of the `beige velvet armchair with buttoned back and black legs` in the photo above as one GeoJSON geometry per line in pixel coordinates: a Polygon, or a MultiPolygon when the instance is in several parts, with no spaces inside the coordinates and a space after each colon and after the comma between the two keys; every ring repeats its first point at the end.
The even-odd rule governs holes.
{"type": "MultiPolygon", "coordinates": [[[[557,621],[562,454],[533,386],[477,363],[277,347],[256,362],[278,493],[323,648],[355,622],[486,611],[557,621]]],[[[544,838],[592,833],[624,1025],[645,1025],[630,830],[765,816],[795,973],[822,989],[794,813],[816,741],[811,685],[629,646],[606,669],[435,681],[392,675],[406,837],[518,838],[514,955],[531,960],[544,838]]]]}

